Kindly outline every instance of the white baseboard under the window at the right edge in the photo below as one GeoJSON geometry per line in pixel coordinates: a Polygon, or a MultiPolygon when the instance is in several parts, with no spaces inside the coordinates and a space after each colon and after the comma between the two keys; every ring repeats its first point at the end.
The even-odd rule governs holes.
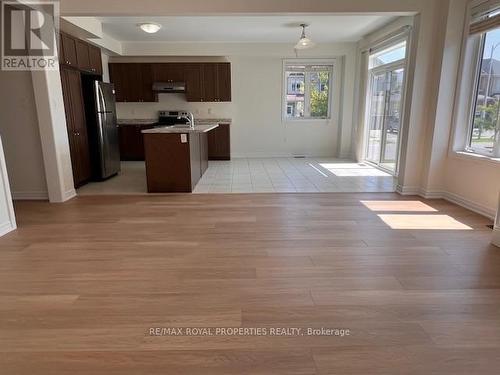
{"type": "Polygon", "coordinates": [[[470,199],[464,198],[458,194],[440,190],[425,190],[416,186],[400,186],[396,191],[401,195],[418,195],[425,199],[444,199],[458,206],[464,207],[488,219],[495,219],[496,212],[489,207],[478,204],[470,199]]]}

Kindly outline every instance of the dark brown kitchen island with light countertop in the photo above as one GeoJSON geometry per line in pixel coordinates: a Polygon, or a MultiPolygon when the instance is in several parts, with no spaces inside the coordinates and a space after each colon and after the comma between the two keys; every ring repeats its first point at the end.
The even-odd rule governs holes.
{"type": "Polygon", "coordinates": [[[208,168],[207,133],[217,127],[143,130],[148,192],[192,192],[208,168]]]}

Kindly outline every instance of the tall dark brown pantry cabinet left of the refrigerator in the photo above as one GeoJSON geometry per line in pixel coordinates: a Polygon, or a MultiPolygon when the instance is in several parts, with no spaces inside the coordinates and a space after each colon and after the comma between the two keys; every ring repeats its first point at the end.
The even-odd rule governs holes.
{"type": "Polygon", "coordinates": [[[80,72],[74,69],[62,68],[61,84],[73,180],[75,187],[79,187],[90,180],[92,175],[80,72]]]}

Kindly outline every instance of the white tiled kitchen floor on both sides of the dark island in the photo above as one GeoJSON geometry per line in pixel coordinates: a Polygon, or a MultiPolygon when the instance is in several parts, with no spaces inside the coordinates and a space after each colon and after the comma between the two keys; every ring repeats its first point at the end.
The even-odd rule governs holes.
{"type": "MultiPolygon", "coordinates": [[[[79,195],[145,194],[144,162],[122,162],[118,176],[79,195]]],[[[393,192],[395,179],[366,164],[338,159],[262,158],[211,161],[195,193],[393,192]]]]}

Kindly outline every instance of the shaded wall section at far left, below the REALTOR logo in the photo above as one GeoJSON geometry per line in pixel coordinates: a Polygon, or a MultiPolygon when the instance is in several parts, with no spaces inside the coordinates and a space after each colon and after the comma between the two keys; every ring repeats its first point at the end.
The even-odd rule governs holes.
{"type": "Polygon", "coordinates": [[[0,71],[0,135],[12,194],[47,199],[47,183],[30,72],[0,71]]]}

